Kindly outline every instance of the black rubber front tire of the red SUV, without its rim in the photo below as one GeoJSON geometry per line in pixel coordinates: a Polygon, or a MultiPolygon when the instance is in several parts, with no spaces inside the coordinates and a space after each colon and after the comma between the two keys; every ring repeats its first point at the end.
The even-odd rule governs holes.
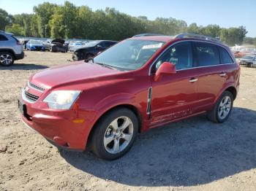
{"type": "Polygon", "coordinates": [[[91,140],[92,151],[94,152],[95,155],[97,155],[102,159],[115,160],[118,157],[123,156],[132,147],[132,144],[134,143],[136,136],[138,134],[138,128],[139,128],[138,117],[136,117],[134,112],[132,112],[129,109],[115,109],[109,112],[108,114],[105,114],[105,116],[103,116],[102,119],[99,120],[99,122],[94,128],[95,130],[91,140]],[[108,125],[110,125],[110,122],[122,116],[129,117],[129,119],[132,120],[133,136],[128,146],[123,151],[118,152],[116,154],[111,154],[104,147],[103,140],[105,136],[105,131],[107,130],[108,125]]]}

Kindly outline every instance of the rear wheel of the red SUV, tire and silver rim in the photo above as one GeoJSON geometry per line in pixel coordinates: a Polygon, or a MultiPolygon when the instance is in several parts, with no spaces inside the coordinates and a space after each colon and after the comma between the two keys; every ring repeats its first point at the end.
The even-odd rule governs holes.
{"type": "Polygon", "coordinates": [[[214,105],[214,108],[208,112],[208,119],[213,122],[225,122],[233,109],[233,101],[233,94],[230,93],[230,91],[222,93],[214,105]]]}

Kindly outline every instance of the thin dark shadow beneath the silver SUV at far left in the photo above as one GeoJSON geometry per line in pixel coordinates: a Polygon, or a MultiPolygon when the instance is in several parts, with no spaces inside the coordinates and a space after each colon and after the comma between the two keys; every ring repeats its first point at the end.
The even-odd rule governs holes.
{"type": "Polygon", "coordinates": [[[39,70],[47,69],[48,66],[32,63],[14,63],[12,66],[0,66],[0,70],[39,70]]]}

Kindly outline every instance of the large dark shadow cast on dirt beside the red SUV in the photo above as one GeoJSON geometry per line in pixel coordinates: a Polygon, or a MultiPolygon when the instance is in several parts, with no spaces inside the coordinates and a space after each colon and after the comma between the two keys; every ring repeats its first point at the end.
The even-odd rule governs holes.
{"type": "Polygon", "coordinates": [[[60,153],[75,168],[121,184],[206,184],[256,167],[255,116],[256,111],[235,107],[222,124],[200,116],[152,129],[114,161],[100,160],[91,152],[60,153]]]}

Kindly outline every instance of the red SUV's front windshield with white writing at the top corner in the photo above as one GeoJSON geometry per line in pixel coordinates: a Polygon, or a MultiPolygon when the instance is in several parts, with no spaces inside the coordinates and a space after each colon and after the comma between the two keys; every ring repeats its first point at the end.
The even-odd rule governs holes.
{"type": "Polygon", "coordinates": [[[94,62],[123,70],[139,69],[163,44],[165,42],[127,39],[97,55],[94,62]]]}

